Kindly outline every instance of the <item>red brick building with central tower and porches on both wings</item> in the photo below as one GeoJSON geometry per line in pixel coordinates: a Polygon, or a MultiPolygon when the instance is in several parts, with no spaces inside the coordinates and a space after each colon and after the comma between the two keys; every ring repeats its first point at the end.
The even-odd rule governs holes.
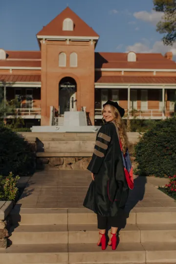
{"type": "Polygon", "coordinates": [[[16,114],[26,127],[49,125],[50,107],[59,117],[86,107],[91,124],[99,125],[108,99],[125,108],[125,119],[173,115],[176,63],[171,52],[95,52],[98,34],[69,7],[37,33],[37,40],[40,51],[0,49],[3,98],[17,99],[16,114]]]}

